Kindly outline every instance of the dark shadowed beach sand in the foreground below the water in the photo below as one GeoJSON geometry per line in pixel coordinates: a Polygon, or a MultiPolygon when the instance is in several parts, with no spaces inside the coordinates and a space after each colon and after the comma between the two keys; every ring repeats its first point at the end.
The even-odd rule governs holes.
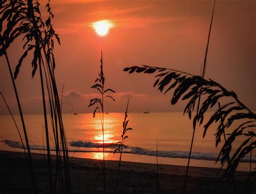
{"type": "MultiPolygon", "coordinates": [[[[53,156],[54,157],[54,156],[53,156]]],[[[48,174],[44,156],[33,154],[39,193],[48,193],[48,174]]],[[[103,177],[100,160],[73,158],[70,164],[72,193],[103,193],[103,177]]],[[[117,161],[106,161],[107,193],[114,193],[117,161]]],[[[33,193],[29,170],[23,153],[0,152],[0,193],[33,193]]],[[[186,193],[234,193],[233,186],[216,177],[218,169],[191,167],[186,193]]],[[[181,193],[185,167],[159,165],[160,193],[181,193]]],[[[245,173],[239,172],[235,179],[238,193],[242,193],[245,173]]],[[[251,193],[255,194],[256,185],[251,193]]],[[[122,162],[118,193],[157,193],[156,165],[122,162]]]]}

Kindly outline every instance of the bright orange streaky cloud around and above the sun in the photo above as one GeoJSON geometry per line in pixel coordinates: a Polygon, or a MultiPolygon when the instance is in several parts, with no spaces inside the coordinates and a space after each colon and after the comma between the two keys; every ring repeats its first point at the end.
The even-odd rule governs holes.
{"type": "MultiPolygon", "coordinates": [[[[89,1],[90,2],[90,1],[89,1]]],[[[65,5],[61,5],[63,16],[72,15],[76,17],[76,21],[66,18],[62,26],[57,26],[56,32],[59,34],[73,34],[80,31],[93,30],[92,24],[99,20],[109,20],[114,28],[142,28],[161,23],[170,23],[184,19],[184,17],[170,17],[166,15],[150,15],[153,10],[153,5],[130,5],[131,8],[113,8],[105,6],[104,9],[85,8],[85,10],[73,12],[73,9],[68,9],[65,5]],[[96,11],[95,11],[96,10],[96,11]]],[[[81,5],[82,7],[84,5],[81,5]]],[[[81,7],[80,6],[80,7],[81,7]]],[[[89,6],[90,7],[90,6],[89,6]]],[[[58,7],[56,7],[58,9],[58,7]]],[[[65,17],[64,16],[64,17],[65,17]]]]}

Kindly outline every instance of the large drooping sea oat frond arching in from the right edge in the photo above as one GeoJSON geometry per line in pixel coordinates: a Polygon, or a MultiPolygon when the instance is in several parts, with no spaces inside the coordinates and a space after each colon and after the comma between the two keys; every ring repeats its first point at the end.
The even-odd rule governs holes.
{"type": "Polygon", "coordinates": [[[231,178],[240,160],[255,148],[256,141],[250,142],[250,140],[255,136],[251,128],[255,126],[253,122],[256,121],[256,114],[239,100],[234,91],[227,90],[221,84],[211,79],[206,80],[201,76],[194,76],[173,69],[133,66],[125,68],[124,71],[129,71],[129,73],[159,73],[155,76],[157,80],[153,87],[158,87],[158,90],[164,92],[164,94],[173,90],[171,105],[176,104],[179,100],[188,100],[184,114],[193,119],[193,127],[196,127],[197,123],[199,125],[203,124],[206,111],[216,107],[221,99],[226,98],[229,100],[229,103],[220,106],[220,108],[217,107],[217,110],[204,125],[203,133],[204,137],[208,128],[213,123],[217,123],[215,138],[216,146],[218,146],[221,136],[224,134],[224,129],[237,125],[239,121],[242,123],[228,136],[219,153],[221,164],[227,163],[230,157],[230,164],[227,163],[228,165],[224,173],[225,177],[231,178]],[[199,112],[192,116],[200,96],[202,97],[202,102],[199,105],[199,112]],[[232,150],[232,143],[240,136],[246,136],[246,140],[241,143],[239,148],[232,150]],[[231,151],[234,152],[232,156],[231,151]]]}

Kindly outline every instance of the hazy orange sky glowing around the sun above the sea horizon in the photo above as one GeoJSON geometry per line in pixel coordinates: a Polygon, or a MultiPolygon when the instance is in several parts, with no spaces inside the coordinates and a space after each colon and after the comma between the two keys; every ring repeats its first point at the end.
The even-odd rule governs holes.
{"type": "MultiPolygon", "coordinates": [[[[154,77],[127,74],[123,68],[146,64],[200,73],[210,25],[213,1],[92,1],[52,0],[53,24],[61,46],[55,48],[59,92],[65,82],[63,101],[74,112],[91,112],[91,85],[99,71],[103,51],[106,87],[117,91],[116,102],[106,102],[107,112],[123,112],[130,97],[131,112],[181,111],[184,104],[170,106],[171,94],[152,88],[154,77]],[[105,36],[92,24],[109,20],[105,36]]],[[[43,1],[42,1],[43,5],[43,1]]],[[[42,6],[42,9],[44,6],[42,6]]],[[[255,1],[217,0],[208,50],[206,78],[237,92],[256,110],[255,92],[255,1]]],[[[22,42],[8,50],[12,69],[22,55],[22,42]]],[[[31,55],[29,55],[31,56],[31,55]]],[[[14,90],[4,58],[0,59],[0,90],[17,113],[14,90]]],[[[22,65],[17,87],[25,113],[42,113],[38,73],[31,80],[31,57],[22,65]]],[[[69,112],[65,105],[64,112],[69,112]]],[[[0,113],[6,114],[3,100],[0,113]]]]}

